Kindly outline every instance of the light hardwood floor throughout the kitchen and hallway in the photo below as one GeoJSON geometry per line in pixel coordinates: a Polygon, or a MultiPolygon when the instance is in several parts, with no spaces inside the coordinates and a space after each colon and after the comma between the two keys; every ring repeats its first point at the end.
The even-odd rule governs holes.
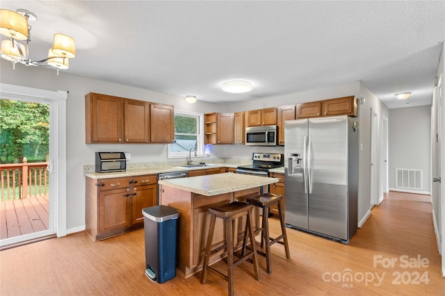
{"type": "MultiPolygon", "coordinates": [[[[270,224],[277,233],[277,220],[270,224]]],[[[260,281],[252,277],[250,263],[239,265],[236,295],[445,295],[429,196],[390,192],[349,245],[293,229],[287,233],[291,259],[282,245],[273,245],[273,272],[265,272],[260,257],[260,281]],[[421,262],[414,262],[418,256],[421,262]],[[391,258],[394,267],[385,265],[391,258]]],[[[204,285],[200,273],[149,281],[144,248],[144,232],[138,230],[101,242],[74,233],[6,249],[0,252],[0,295],[227,294],[227,281],[214,272],[204,285]]]]}

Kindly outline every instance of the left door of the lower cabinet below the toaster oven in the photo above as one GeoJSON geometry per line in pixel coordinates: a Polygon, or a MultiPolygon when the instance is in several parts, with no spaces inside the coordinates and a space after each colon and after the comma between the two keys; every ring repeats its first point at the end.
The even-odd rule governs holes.
{"type": "Polygon", "coordinates": [[[100,192],[98,234],[130,226],[129,201],[128,188],[103,190],[100,192]]]}

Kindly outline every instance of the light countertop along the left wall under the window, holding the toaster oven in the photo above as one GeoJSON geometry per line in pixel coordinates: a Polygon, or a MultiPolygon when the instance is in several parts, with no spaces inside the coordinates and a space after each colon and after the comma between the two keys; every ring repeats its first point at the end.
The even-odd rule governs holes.
{"type": "Polygon", "coordinates": [[[120,178],[128,176],[142,176],[145,174],[162,174],[166,172],[188,172],[191,170],[208,170],[217,167],[238,167],[239,164],[236,163],[207,163],[205,167],[180,167],[180,166],[170,166],[170,167],[140,167],[126,170],[125,172],[83,172],[84,176],[92,179],[107,179],[107,178],[120,178]]]}

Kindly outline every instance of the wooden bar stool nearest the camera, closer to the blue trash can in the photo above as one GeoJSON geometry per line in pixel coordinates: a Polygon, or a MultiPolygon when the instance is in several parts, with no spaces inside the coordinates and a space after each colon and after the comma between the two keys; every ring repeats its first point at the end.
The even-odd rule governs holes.
{"type": "Polygon", "coordinates": [[[202,265],[202,277],[201,283],[205,283],[207,279],[207,269],[211,268],[212,270],[218,272],[218,274],[222,275],[229,282],[229,295],[234,295],[234,267],[243,261],[247,260],[250,257],[253,261],[254,267],[254,278],[259,281],[259,270],[258,270],[258,261],[257,261],[257,248],[255,244],[252,243],[252,247],[248,254],[244,254],[245,251],[245,243],[243,243],[243,250],[241,254],[234,253],[234,221],[237,218],[247,216],[247,221],[245,224],[245,234],[249,231],[250,241],[254,242],[254,231],[252,227],[252,209],[253,206],[251,204],[247,204],[245,202],[232,202],[230,204],[225,204],[223,206],[216,206],[213,208],[209,208],[209,213],[211,214],[210,226],[209,226],[209,236],[207,238],[207,247],[206,252],[204,254],[204,263],[202,265]],[[213,240],[213,231],[215,229],[216,218],[220,218],[225,220],[225,244],[216,249],[211,249],[211,243],[213,240]],[[211,254],[214,254],[221,249],[227,249],[227,275],[215,270],[211,266],[209,266],[209,260],[211,254]],[[238,258],[236,262],[234,262],[234,256],[238,258]]]}

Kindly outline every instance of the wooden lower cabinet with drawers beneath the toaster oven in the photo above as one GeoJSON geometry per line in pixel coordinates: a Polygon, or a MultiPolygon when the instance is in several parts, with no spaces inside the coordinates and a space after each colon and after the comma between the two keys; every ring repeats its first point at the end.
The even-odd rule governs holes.
{"type": "Polygon", "coordinates": [[[157,204],[157,175],[86,178],[86,232],[103,240],[144,226],[142,210],[157,204]]]}

